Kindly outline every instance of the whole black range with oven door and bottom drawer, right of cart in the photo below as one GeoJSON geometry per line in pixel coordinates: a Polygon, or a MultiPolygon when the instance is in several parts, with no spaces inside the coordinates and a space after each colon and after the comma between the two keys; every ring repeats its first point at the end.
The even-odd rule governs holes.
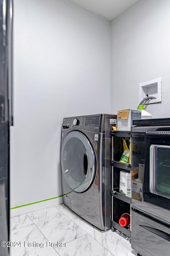
{"type": "Polygon", "coordinates": [[[169,256],[170,118],[133,125],[131,246],[143,256],[169,256]]]}

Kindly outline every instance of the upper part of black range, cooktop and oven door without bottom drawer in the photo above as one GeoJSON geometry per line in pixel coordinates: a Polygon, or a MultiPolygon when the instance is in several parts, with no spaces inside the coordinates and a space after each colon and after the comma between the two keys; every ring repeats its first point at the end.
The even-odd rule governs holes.
{"type": "Polygon", "coordinates": [[[142,183],[142,191],[138,199],[132,187],[132,198],[170,210],[170,119],[136,120],[134,124],[132,175],[136,172],[138,177],[132,185],[135,180],[137,185],[142,183]]]}

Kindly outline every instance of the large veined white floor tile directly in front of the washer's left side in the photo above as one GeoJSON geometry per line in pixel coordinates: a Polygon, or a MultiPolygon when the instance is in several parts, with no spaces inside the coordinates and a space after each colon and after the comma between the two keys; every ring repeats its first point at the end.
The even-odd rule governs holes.
{"type": "Polygon", "coordinates": [[[56,207],[28,214],[35,225],[53,243],[67,243],[86,234],[56,207]]]}

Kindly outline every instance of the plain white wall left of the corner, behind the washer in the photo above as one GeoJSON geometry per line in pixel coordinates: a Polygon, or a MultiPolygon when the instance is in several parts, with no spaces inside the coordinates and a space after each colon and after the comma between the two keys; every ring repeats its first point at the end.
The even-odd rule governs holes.
{"type": "Polygon", "coordinates": [[[14,0],[11,206],[61,195],[63,117],[110,113],[110,22],[67,0],[14,0]]]}

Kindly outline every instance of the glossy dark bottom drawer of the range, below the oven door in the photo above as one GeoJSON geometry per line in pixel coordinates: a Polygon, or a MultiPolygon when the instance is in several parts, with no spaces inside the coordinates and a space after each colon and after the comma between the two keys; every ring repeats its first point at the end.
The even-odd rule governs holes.
{"type": "Polygon", "coordinates": [[[142,256],[169,256],[169,225],[133,210],[131,220],[131,247],[134,250],[142,256]]]}

